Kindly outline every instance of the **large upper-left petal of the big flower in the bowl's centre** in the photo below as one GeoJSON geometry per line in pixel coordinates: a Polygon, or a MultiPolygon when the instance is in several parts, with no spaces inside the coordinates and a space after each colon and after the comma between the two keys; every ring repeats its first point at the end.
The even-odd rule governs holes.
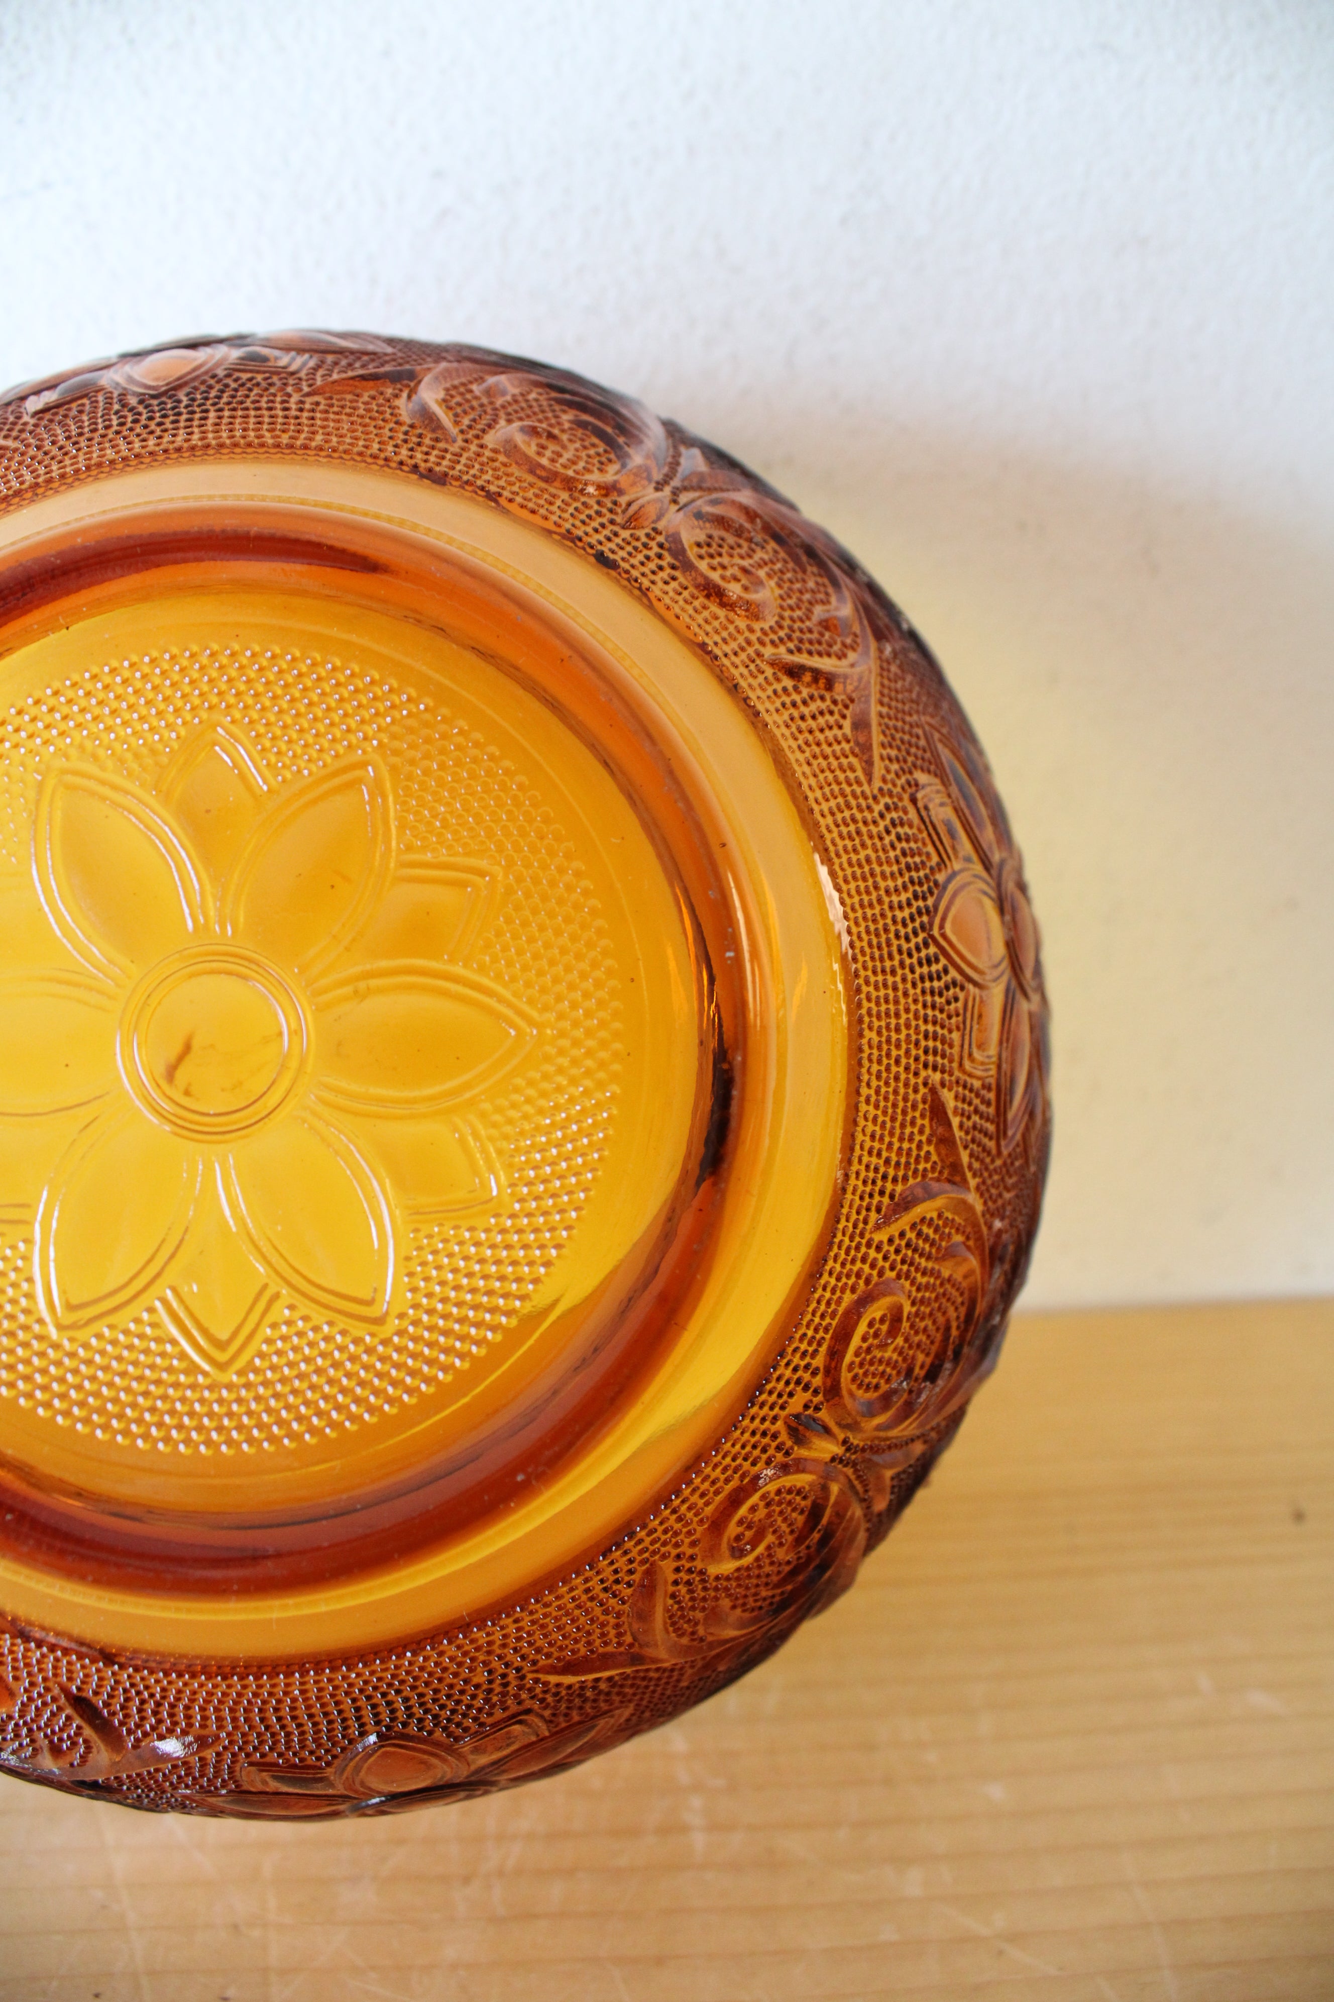
{"type": "Polygon", "coordinates": [[[48,919],[94,973],[132,975],[212,915],[182,831],[136,785],[82,765],[42,787],[34,873],[48,919]]]}

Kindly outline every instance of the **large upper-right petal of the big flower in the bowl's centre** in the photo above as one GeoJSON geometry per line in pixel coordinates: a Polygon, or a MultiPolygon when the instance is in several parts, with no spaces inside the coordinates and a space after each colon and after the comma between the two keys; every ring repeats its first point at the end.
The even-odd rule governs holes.
{"type": "Polygon", "coordinates": [[[376,909],[392,863],[384,767],[344,759],[278,793],[228,883],[224,931],[310,973],[376,909]]]}

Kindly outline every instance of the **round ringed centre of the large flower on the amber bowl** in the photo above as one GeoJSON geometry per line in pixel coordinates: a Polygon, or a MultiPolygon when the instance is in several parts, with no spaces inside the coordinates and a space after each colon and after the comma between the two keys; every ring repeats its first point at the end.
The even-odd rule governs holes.
{"type": "Polygon", "coordinates": [[[306,1045],[304,1009],[276,967],[238,947],[188,947],[130,995],[120,1069],[160,1125],[226,1139],[286,1103],[306,1045]]]}

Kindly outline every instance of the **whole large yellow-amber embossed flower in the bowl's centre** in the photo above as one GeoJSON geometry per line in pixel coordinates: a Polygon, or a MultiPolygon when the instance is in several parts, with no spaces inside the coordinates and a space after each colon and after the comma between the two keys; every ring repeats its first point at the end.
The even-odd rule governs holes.
{"type": "Polygon", "coordinates": [[[152,1305],[222,1373],[282,1299],[382,1323],[402,1217],[500,1191],[472,1105],[536,1023],[458,965],[488,871],[396,855],[378,759],[274,787],[220,725],[152,793],[48,773],[32,855],[0,885],[0,1195],[50,1325],[152,1305]]]}

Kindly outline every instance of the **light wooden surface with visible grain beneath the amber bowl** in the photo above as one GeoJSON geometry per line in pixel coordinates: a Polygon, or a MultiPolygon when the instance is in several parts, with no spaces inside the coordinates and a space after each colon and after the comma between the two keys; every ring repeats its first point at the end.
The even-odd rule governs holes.
{"type": "Polygon", "coordinates": [[[1334,1305],[1018,1321],[856,1590],[704,1710],[384,1822],[0,1782],[0,1996],[1334,1998],[1334,1305]]]}

